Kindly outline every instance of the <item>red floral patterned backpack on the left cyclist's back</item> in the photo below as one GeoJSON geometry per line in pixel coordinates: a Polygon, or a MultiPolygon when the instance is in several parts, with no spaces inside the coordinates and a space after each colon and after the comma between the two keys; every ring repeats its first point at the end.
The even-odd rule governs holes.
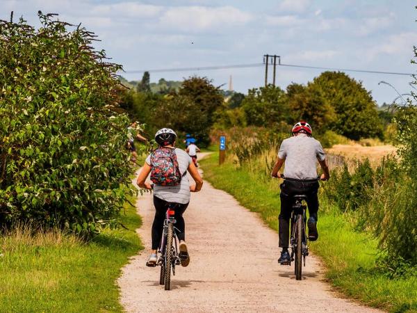
{"type": "Polygon", "coordinates": [[[181,172],[175,149],[158,147],[151,154],[151,180],[159,186],[177,186],[181,183],[181,172]]]}

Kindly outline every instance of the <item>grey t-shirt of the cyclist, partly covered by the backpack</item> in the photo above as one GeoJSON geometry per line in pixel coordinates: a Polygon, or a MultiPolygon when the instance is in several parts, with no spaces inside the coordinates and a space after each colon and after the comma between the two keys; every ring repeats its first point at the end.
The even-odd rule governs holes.
{"type": "MultiPolygon", "coordinates": [[[[187,152],[175,148],[175,154],[177,154],[177,161],[179,171],[181,174],[187,173],[188,166],[190,165],[191,158],[187,152]]],[[[151,155],[146,158],[146,163],[152,167],[151,155]]],[[[175,202],[186,204],[190,202],[190,182],[188,182],[187,175],[183,175],[181,184],[177,186],[158,186],[154,185],[154,195],[167,202],[175,202]]]]}

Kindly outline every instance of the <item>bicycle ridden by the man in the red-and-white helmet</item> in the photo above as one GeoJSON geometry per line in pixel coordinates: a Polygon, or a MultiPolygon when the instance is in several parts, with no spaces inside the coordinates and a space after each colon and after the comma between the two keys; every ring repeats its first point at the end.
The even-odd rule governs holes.
{"type": "MultiPolygon", "coordinates": [[[[281,176],[285,179],[284,175],[281,176]]],[[[318,177],[320,181],[320,177],[318,177]]],[[[306,266],[306,257],[309,255],[309,236],[306,235],[306,209],[303,204],[307,200],[306,195],[293,195],[293,211],[290,218],[290,245],[291,245],[291,261],[295,262],[294,274],[296,280],[302,278],[302,265],[306,266]]],[[[291,261],[289,264],[291,265],[291,261]]]]}

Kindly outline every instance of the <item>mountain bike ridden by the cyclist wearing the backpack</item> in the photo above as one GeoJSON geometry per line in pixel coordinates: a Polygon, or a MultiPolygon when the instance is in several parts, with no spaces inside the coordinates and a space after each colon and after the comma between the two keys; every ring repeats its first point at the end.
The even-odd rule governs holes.
{"type": "Polygon", "coordinates": [[[163,233],[161,244],[158,248],[158,262],[161,266],[161,273],[159,276],[159,284],[165,284],[165,290],[171,289],[171,271],[175,275],[175,266],[181,264],[179,257],[179,241],[177,232],[179,230],[174,227],[177,220],[174,218],[175,204],[170,204],[165,214],[163,222],[163,233]]]}

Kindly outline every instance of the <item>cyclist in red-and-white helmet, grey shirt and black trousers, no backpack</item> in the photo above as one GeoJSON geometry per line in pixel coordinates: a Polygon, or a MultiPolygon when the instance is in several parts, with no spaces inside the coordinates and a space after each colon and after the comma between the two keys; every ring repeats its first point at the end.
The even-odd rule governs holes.
{"type": "Polygon", "coordinates": [[[282,248],[278,262],[281,265],[291,264],[288,252],[289,228],[291,211],[293,207],[293,195],[306,195],[309,207],[309,240],[318,239],[317,211],[318,211],[318,179],[317,161],[320,163],[323,174],[321,180],[329,179],[329,167],[319,141],[312,137],[311,126],[304,121],[294,125],[293,137],[287,138],[279,147],[278,158],[272,169],[271,176],[281,178],[279,169],[285,163],[284,182],[281,188],[281,213],[278,217],[279,247],[282,248]]]}

